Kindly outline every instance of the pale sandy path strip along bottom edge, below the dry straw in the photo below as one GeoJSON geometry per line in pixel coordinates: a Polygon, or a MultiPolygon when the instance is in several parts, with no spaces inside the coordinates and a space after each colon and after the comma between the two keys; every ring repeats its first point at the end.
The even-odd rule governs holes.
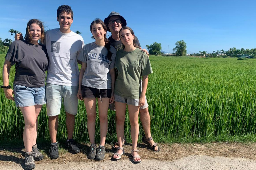
{"type": "MultiPolygon", "coordinates": [[[[23,170],[24,165],[12,163],[2,165],[0,170],[23,170]]],[[[256,161],[245,158],[226,158],[211,156],[188,156],[175,161],[143,160],[139,164],[133,164],[130,160],[94,162],[67,162],[65,163],[37,163],[34,170],[255,170],[256,161]]]]}

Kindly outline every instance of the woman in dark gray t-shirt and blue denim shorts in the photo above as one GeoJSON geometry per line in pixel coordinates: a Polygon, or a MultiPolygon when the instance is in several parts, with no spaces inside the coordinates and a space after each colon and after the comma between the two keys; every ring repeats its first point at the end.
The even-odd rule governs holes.
{"type": "Polygon", "coordinates": [[[44,156],[38,151],[37,117],[45,99],[45,71],[48,68],[48,56],[44,42],[44,27],[37,19],[27,23],[25,41],[14,41],[6,54],[3,67],[3,86],[6,98],[15,101],[24,117],[23,141],[26,149],[25,169],[35,167],[34,160],[42,160],[44,156]],[[13,90],[9,85],[9,71],[15,64],[13,90]],[[14,94],[14,97],[13,97],[14,94]]]}

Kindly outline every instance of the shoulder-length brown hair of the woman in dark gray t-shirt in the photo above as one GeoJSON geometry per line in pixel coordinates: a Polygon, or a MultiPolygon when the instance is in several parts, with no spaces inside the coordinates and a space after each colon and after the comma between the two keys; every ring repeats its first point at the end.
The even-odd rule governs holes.
{"type": "Polygon", "coordinates": [[[41,39],[40,39],[40,42],[42,44],[44,44],[44,26],[43,26],[43,23],[40,20],[38,20],[38,19],[31,19],[31,20],[28,21],[27,29],[26,29],[26,34],[25,34],[26,42],[31,42],[31,40],[32,40],[32,36],[29,33],[29,27],[31,26],[31,24],[36,24],[36,25],[38,25],[41,28],[41,39]]]}

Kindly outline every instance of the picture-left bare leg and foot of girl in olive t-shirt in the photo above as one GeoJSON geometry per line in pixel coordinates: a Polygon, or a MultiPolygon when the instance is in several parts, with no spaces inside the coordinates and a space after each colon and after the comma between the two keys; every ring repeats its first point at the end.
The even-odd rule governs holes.
{"type": "MultiPolygon", "coordinates": [[[[126,103],[115,102],[116,105],[116,135],[119,147],[123,148],[123,138],[124,138],[124,121],[125,121],[125,111],[126,103]]],[[[117,150],[117,153],[121,154],[122,150],[117,150]]],[[[113,158],[118,158],[119,156],[114,155],[113,158]]]]}

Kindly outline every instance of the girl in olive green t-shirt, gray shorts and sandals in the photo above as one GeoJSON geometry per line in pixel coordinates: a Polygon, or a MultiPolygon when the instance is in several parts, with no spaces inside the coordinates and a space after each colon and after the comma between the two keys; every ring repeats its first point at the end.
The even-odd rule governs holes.
{"type": "Polygon", "coordinates": [[[116,69],[118,71],[115,82],[115,107],[116,107],[116,129],[118,147],[117,152],[112,156],[113,159],[120,159],[124,153],[122,139],[124,138],[124,121],[126,104],[128,105],[133,162],[141,162],[138,155],[137,142],[139,135],[139,107],[145,103],[145,94],[148,85],[148,74],[153,73],[146,53],[141,52],[134,44],[134,33],[131,28],[123,27],[119,32],[119,37],[124,48],[117,51],[116,69]],[[140,92],[140,77],[142,76],[142,90],[140,92]]]}

